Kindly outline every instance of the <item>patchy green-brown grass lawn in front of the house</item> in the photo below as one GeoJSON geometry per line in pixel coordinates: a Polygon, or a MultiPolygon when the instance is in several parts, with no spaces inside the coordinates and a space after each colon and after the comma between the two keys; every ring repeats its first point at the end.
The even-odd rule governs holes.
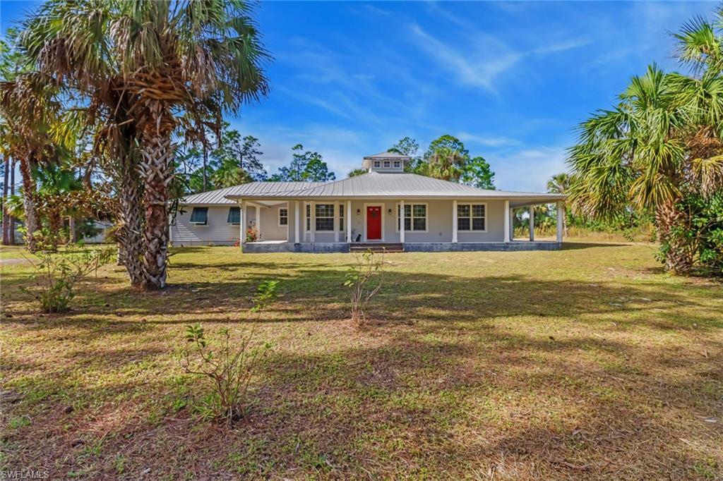
{"type": "Polygon", "coordinates": [[[393,254],[356,329],[348,254],[182,248],[162,293],[110,265],[38,315],[3,248],[1,469],[136,479],[720,479],[723,286],[649,245],[393,254]],[[278,302],[247,314],[262,280],[278,302]],[[187,324],[273,343],[247,421],[197,420],[187,324]]]}

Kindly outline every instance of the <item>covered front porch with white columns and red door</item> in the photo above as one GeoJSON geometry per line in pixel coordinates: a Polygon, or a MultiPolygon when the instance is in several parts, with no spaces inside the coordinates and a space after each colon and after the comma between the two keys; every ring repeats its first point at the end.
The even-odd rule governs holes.
{"type": "MultiPolygon", "coordinates": [[[[542,199],[544,201],[544,199],[542,199]]],[[[244,252],[348,252],[360,243],[398,243],[404,251],[552,250],[537,241],[536,199],[239,199],[244,252]],[[513,209],[529,209],[529,239],[513,235],[513,209]],[[404,228],[400,228],[403,224],[404,228]]]]}

